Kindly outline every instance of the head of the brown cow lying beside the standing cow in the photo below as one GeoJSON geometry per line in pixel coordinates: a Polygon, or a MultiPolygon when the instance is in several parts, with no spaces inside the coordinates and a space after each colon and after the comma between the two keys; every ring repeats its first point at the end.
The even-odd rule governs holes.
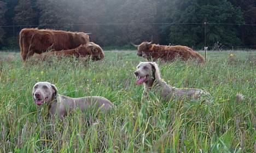
{"type": "Polygon", "coordinates": [[[104,56],[105,56],[104,52],[99,45],[95,44],[94,42],[90,42],[86,45],[87,45],[88,50],[90,50],[90,52],[91,52],[92,60],[98,61],[98,60],[102,60],[104,58],[104,56]]]}

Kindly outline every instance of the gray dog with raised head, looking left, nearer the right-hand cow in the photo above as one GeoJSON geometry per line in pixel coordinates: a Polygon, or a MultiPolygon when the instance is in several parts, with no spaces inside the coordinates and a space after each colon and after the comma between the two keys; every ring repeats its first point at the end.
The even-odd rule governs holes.
{"type": "Polygon", "coordinates": [[[171,98],[194,98],[202,95],[210,96],[210,93],[201,89],[178,89],[168,85],[160,77],[158,65],[155,62],[140,62],[134,73],[137,77],[136,84],[144,84],[142,98],[148,98],[148,92],[153,91],[166,101],[171,98]]]}

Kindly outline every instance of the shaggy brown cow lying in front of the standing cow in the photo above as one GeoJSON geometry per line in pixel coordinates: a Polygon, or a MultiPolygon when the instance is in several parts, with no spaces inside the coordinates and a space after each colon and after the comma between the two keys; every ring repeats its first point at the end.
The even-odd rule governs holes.
{"type": "Polygon", "coordinates": [[[45,60],[48,57],[57,56],[57,57],[91,57],[92,60],[98,61],[104,58],[104,52],[101,47],[93,42],[89,42],[84,45],[78,46],[75,49],[69,50],[60,50],[60,51],[51,51],[44,52],[42,54],[38,54],[34,56],[35,58],[39,58],[40,60],[45,60]]]}

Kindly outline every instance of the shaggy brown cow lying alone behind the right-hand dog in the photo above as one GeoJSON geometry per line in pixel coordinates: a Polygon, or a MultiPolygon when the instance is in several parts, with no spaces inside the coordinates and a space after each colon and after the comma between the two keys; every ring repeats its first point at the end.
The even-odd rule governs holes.
{"type": "Polygon", "coordinates": [[[172,61],[174,58],[179,57],[184,61],[188,61],[189,58],[195,58],[198,62],[205,62],[205,58],[202,55],[187,46],[164,46],[152,44],[152,42],[143,42],[135,46],[138,48],[137,55],[145,57],[147,60],[160,58],[164,61],[172,61]]]}

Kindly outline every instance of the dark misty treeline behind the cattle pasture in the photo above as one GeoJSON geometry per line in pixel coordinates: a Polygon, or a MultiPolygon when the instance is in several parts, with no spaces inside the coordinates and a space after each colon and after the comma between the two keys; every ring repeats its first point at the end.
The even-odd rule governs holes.
{"type": "Polygon", "coordinates": [[[255,0],[0,0],[0,48],[16,48],[25,27],[88,32],[102,46],[203,46],[206,30],[207,45],[253,47],[256,26],[245,24],[256,24],[255,0]]]}

